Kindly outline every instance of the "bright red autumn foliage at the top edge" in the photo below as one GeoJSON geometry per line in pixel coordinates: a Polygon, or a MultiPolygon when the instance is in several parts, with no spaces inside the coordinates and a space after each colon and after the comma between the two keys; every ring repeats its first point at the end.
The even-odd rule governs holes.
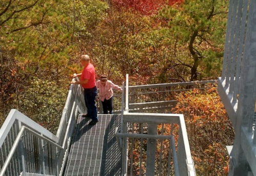
{"type": "Polygon", "coordinates": [[[164,6],[180,5],[184,0],[113,0],[116,7],[131,8],[144,15],[158,13],[164,6]]]}

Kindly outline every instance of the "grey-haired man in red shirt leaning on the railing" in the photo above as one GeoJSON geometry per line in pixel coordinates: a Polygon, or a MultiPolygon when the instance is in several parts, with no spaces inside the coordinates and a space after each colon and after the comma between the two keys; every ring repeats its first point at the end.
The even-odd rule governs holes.
{"type": "Polygon", "coordinates": [[[90,58],[88,55],[82,55],[80,61],[84,66],[84,70],[82,73],[73,75],[73,78],[81,76],[80,81],[71,81],[71,84],[81,84],[84,87],[85,105],[88,113],[83,117],[90,117],[91,122],[89,125],[95,125],[99,121],[97,118],[97,106],[95,102],[97,95],[95,69],[90,63],[90,58]]]}

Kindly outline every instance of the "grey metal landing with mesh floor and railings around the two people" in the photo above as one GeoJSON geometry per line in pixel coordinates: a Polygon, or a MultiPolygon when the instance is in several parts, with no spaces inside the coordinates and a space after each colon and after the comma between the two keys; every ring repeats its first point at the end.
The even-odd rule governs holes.
{"type": "MultiPolygon", "coordinates": [[[[115,115],[99,114],[100,122],[92,127],[87,125],[88,119],[78,116],[86,113],[83,90],[80,85],[72,84],[56,135],[12,109],[0,129],[0,176],[150,176],[174,172],[175,175],[195,175],[183,115],[169,113],[175,104],[175,100],[171,100],[174,94],[187,91],[188,87],[204,89],[206,83],[129,86],[127,75],[123,95],[114,97],[115,107],[121,109],[115,109],[115,115]],[[121,102],[120,97],[123,97],[121,102]],[[162,131],[164,127],[180,126],[179,139],[175,141],[172,132],[157,132],[159,125],[162,131]],[[137,140],[147,146],[147,152],[145,148],[133,147],[137,140]],[[163,148],[164,140],[170,146],[168,160],[154,154],[156,144],[157,148],[158,145],[163,148]],[[140,157],[132,156],[133,150],[139,151],[140,157]],[[141,164],[134,167],[133,162],[138,158],[141,164]]],[[[162,152],[157,149],[157,155],[163,156],[162,152]]]]}

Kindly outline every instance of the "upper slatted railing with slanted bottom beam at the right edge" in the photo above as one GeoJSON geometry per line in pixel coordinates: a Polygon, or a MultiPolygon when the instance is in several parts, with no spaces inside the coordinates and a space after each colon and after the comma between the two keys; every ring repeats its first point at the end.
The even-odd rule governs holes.
{"type": "Polygon", "coordinates": [[[249,0],[231,0],[229,5],[223,69],[222,76],[218,79],[218,92],[221,97],[225,95],[222,101],[234,127],[237,122],[235,114],[238,109],[240,89],[247,86],[245,81],[250,82],[253,89],[252,84],[256,81],[255,76],[252,75],[252,69],[255,67],[253,59],[255,54],[252,52],[255,46],[251,43],[255,38],[252,32],[255,26],[256,10],[252,8],[254,4],[254,1],[249,0]],[[247,76],[248,78],[245,78],[247,76]]]}

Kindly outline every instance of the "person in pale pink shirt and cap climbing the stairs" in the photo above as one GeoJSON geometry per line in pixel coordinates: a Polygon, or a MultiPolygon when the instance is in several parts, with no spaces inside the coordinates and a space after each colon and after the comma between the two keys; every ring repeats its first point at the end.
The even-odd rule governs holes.
{"type": "Polygon", "coordinates": [[[116,89],[122,92],[122,88],[108,80],[106,75],[102,75],[99,81],[96,81],[96,86],[100,90],[99,98],[103,105],[103,114],[113,114],[113,91],[116,89]]]}

